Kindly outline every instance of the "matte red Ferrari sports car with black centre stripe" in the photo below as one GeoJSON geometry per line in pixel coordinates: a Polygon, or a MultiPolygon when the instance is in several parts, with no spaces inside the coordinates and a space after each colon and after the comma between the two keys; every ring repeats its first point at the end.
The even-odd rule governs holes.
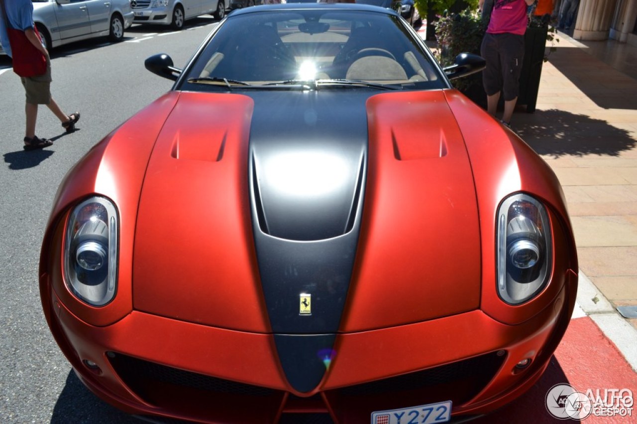
{"type": "Polygon", "coordinates": [[[561,187],[396,12],[256,6],[70,171],[42,304],[92,392],[197,422],[440,423],[532,386],[568,325],[561,187]],[[308,415],[314,414],[314,416],[308,415]],[[314,422],[314,421],[313,421],[314,422]]]}

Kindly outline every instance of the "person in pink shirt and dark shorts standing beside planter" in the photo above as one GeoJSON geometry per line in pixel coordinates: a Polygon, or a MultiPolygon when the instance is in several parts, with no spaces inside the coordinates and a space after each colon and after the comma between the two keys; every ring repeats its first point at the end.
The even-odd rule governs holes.
{"type": "MultiPolygon", "coordinates": [[[[505,111],[501,121],[507,127],[511,127],[520,88],[527,6],[533,3],[534,0],[494,0],[489,27],[480,47],[480,55],[487,61],[487,67],[482,71],[487,111],[496,116],[497,102],[502,93],[505,111]]],[[[484,0],[480,0],[480,8],[483,4],[484,0]]]]}

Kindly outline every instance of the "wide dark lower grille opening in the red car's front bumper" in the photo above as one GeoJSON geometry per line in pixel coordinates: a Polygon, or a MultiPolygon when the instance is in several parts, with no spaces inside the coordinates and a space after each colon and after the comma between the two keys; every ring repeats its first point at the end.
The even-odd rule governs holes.
{"type": "Polygon", "coordinates": [[[261,386],[155,364],[109,352],[113,369],[132,392],[159,408],[190,420],[272,423],[358,422],[373,411],[451,400],[454,406],[473,399],[493,378],[505,355],[489,353],[467,360],[410,372],[361,385],[297,397],[261,386]]]}

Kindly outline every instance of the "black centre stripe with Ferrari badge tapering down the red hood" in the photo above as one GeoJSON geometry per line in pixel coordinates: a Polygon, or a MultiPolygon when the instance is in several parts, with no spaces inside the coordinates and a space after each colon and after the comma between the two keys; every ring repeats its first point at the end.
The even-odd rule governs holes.
{"type": "Polygon", "coordinates": [[[252,225],[283,370],[290,385],[308,392],[326,371],[318,351],[332,348],[352,277],[367,169],[365,104],[375,92],[284,94],[248,94],[255,105],[249,149],[252,225]],[[282,157],[301,163],[280,162],[282,157]],[[273,176],[280,171],[283,180],[273,176]],[[318,188],[295,185],[311,178],[317,178],[318,188]],[[310,313],[302,314],[302,301],[311,304],[310,313]]]}

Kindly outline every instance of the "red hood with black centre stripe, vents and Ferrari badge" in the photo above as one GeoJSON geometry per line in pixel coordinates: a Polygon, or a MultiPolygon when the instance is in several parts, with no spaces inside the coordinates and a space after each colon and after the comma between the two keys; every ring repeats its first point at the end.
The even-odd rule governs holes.
{"type": "Polygon", "coordinates": [[[135,309],[276,334],[478,308],[475,187],[444,92],[182,93],[148,162],[132,282],[135,309]]]}

